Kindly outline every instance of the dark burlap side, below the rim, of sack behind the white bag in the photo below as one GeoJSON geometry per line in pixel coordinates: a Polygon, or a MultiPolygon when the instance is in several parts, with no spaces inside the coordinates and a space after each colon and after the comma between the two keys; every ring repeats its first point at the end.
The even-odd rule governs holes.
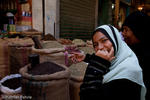
{"type": "Polygon", "coordinates": [[[10,74],[19,73],[19,69],[28,62],[28,56],[31,54],[32,46],[9,45],[9,66],[10,74]]]}

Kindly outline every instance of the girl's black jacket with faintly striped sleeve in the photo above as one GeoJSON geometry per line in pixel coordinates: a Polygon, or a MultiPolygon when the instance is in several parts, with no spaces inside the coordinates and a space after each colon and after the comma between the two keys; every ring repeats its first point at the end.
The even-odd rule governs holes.
{"type": "Polygon", "coordinates": [[[94,54],[87,54],[84,61],[89,65],[80,87],[80,100],[140,100],[141,86],[130,80],[102,83],[103,75],[109,72],[109,61],[94,54]]]}

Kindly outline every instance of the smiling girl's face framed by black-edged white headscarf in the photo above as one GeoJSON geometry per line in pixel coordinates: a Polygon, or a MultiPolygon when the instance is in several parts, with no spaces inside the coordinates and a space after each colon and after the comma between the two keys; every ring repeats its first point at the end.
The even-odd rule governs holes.
{"type": "Polygon", "coordinates": [[[97,52],[98,50],[110,52],[111,48],[113,48],[111,41],[101,32],[96,32],[94,34],[93,46],[95,52],[97,52]]]}

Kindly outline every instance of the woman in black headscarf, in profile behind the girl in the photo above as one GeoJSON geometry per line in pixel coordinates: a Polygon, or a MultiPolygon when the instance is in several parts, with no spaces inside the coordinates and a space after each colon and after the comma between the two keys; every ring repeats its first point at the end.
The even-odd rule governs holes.
{"type": "Polygon", "coordinates": [[[135,52],[143,69],[144,82],[147,87],[146,100],[150,100],[150,18],[141,11],[131,13],[122,25],[124,40],[135,52]]]}

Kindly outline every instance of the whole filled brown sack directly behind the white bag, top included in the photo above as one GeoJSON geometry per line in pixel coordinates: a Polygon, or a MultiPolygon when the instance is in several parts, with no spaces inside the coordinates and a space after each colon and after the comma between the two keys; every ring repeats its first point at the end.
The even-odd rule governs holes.
{"type": "Polygon", "coordinates": [[[8,45],[10,73],[19,73],[19,69],[28,64],[28,55],[32,53],[32,40],[18,40],[8,45]],[[31,41],[31,42],[30,42],[31,41]]]}

